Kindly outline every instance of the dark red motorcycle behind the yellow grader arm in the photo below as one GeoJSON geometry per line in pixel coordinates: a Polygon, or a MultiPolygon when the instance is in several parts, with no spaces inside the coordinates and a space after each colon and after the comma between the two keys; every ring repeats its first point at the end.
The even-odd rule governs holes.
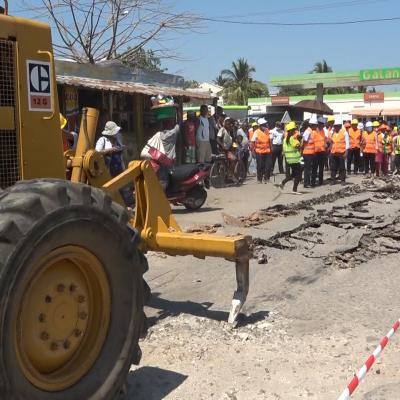
{"type": "Polygon", "coordinates": [[[210,168],[208,164],[173,165],[173,160],[154,147],[149,149],[150,162],[165,190],[168,201],[183,205],[194,211],[207,200],[206,189],[210,188],[210,168]]]}

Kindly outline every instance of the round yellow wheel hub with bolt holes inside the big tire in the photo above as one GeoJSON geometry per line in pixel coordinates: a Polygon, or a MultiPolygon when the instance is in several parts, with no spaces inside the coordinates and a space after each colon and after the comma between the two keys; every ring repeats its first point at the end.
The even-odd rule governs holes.
{"type": "Polygon", "coordinates": [[[86,249],[57,249],[33,267],[16,326],[17,356],[34,385],[71,386],[97,359],[110,320],[110,289],[99,260],[86,249]]]}

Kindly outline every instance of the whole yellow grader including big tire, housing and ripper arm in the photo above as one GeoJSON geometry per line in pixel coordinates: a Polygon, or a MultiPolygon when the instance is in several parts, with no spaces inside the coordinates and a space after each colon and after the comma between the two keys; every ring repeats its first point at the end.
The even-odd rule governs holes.
{"type": "Polygon", "coordinates": [[[234,262],[230,323],[246,300],[246,238],[182,232],[148,162],[111,179],[93,150],[97,119],[83,111],[76,152],[64,154],[50,28],[3,10],[1,399],[115,398],[140,360],[148,250],[234,262]],[[134,217],[119,194],[132,183],[134,217]]]}

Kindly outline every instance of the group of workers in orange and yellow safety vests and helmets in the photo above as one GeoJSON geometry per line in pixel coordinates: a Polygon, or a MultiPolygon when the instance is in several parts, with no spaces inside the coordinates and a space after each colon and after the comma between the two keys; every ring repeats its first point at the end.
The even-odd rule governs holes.
{"type": "MultiPolygon", "coordinates": [[[[386,175],[400,171],[400,135],[394,124],[385,120],[359,122],[312,115],[300,127],[289,122],[285,128],[279,122],[269,130],[260,118],[249,130],[251,150],[257,160],[257,180],[268,182],[275,160],[283,154],[286,177],[283,187],[294,180],[293,191],[303,180],[304,187],[324,184],[324,170],[330,170],[330,183],[337,179],[345,184],[346,174],[386,175]]],[[[279,172],[282,167],[279,166],[279,172]]]]}

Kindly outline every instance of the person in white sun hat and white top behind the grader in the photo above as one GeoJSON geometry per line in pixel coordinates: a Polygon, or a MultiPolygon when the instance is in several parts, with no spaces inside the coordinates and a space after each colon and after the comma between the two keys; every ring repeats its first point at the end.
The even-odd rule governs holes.
{"type": "Polygon", "coordinates": [[[107,168],[112,177],[119,175],[124,169],[122,159],[123,145],[118,138],[121,127],[114,121],[108,121],[104,127],[102,136],[96,143],[96,151],[103,154],[107,168]]]}

